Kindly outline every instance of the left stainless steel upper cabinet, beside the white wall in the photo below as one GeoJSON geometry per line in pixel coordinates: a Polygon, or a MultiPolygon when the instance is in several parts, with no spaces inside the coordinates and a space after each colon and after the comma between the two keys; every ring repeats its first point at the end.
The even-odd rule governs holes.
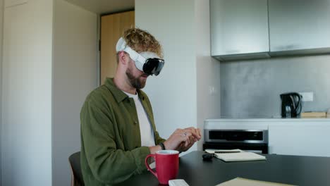
{"type": "Polygon", "coordinates": [[[210,0],[211,53],[220,61],[268,56],[267,0],[210,0]]]}

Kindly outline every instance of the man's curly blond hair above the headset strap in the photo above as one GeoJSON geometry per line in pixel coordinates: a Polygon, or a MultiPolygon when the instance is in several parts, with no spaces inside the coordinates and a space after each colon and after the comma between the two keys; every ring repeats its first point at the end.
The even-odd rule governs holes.
{"type": "Polygon", "coordinates": [[[160,58],[163,58],[163,49],[159,42],[145,30],[139,28],[130,28],[123,33],[125,42],[138,53],[142,51],[154,52],[160,58]]]}

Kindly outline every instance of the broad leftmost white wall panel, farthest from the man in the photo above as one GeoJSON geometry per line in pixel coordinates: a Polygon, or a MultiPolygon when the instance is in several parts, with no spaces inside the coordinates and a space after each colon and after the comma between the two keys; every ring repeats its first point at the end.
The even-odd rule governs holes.
{"type": "Polygon", "coordinates": [[[4,11],[4,186],[51,185],[52,7],[29,0],[4,11]]]}

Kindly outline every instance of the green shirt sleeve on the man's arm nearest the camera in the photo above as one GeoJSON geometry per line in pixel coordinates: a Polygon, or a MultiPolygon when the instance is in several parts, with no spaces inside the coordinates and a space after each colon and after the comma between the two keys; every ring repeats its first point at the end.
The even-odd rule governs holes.
{"type": "Polygon", "coordinates": [[[105,184],[115,184],[145,171],[149,147],[131,151],[117,149],[114,121],[105,101],[87,99],[80,113],[81,135],[88,166],[94,178],[105,184]]]}

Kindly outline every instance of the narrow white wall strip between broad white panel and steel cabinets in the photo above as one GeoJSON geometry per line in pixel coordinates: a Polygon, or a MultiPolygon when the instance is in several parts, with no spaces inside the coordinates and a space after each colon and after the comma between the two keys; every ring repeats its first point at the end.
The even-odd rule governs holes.
{"type": "MultiPolygon", "coordinates": [[[[211,57],[209,1],[195,0],[196,21],[196,66],[197,66],[197,127],[204,128],[206,118],[219,118],[220,63],[211,57]],[[214,87],[214,93],[209,88],[214,87]]],[[[204,133],[202,134],[204,140],[204,133]]],[[[202,142],[198,143],[202,150],[202,142]]]]}

